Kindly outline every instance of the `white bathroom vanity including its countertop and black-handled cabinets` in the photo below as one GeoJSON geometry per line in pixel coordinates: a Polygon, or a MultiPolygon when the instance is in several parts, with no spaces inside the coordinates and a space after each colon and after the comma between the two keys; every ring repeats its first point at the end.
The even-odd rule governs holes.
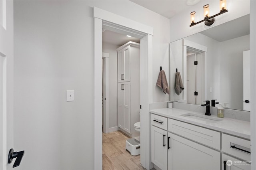
{"type": "Polygon", "coordinates": [[[151,160],[158,168],[250,170],[250,122],[176,108],[150,113],[151,160]]]}

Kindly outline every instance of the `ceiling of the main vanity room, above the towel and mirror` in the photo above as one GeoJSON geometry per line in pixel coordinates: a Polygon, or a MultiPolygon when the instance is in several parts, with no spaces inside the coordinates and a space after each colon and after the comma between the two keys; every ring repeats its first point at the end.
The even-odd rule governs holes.
{"type": "Polygon", "coordinates": [[[197,4],[200,0],[130,0],[140,6],[154,11],[166,18],[184,11],[190,6],[197,4]]]}

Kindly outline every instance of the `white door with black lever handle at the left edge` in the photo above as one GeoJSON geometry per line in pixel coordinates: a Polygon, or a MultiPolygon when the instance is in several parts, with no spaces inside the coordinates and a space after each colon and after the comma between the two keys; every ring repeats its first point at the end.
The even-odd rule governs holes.
{"type": "Polygon", "coordinates": [[[0,1],[0,22],[0,170],[10,170],[17,160],[14,158],[11,164],[7,161],[9,150],[14,148],[12,0],[0,1]]]}

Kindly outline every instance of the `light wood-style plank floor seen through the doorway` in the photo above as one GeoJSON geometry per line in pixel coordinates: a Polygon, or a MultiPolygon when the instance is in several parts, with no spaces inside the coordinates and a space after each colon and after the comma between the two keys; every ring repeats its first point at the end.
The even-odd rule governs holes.
{"type": "Polygon", "coordinates": [[[140,164],[140,155],[132,156],[125,150],[128,138],[121,131],[102,134],[103,170],[145,170],[140,164]]]}

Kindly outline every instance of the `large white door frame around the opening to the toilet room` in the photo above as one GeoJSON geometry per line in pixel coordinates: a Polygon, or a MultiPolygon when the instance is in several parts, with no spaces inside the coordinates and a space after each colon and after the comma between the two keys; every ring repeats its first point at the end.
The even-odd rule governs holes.
{"type": "Polygon", "coordinates": [[[94,7],[94,169],[102,169],[102,27],[140,39],[140,159],[151,169],[149,103],[153,101],[153,28],[94,7]]]}

